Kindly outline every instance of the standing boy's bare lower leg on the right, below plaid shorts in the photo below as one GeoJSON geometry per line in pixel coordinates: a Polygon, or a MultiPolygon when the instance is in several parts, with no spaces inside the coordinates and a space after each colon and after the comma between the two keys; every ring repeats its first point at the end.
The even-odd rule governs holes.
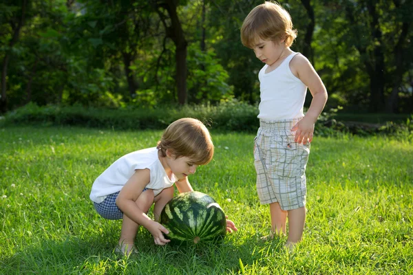
{"type": "Polygon", "coordinates": [[[306,222],[306,208],[300,207],[288,210],[288,239],[286,247],[292,248],[295,243],[301,241],[306,222]]]}

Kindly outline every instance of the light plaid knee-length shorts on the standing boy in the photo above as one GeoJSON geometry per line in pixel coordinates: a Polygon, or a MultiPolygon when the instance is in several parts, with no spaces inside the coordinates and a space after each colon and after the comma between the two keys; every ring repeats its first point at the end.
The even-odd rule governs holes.
{"type": "Polygon", "coordinates": [[[306,206],[306,165],[310,143],[295,142],[291,128],[300,119],[260,120],[254,164],[262,204],[278,202],[282,210],[306,206]]]}

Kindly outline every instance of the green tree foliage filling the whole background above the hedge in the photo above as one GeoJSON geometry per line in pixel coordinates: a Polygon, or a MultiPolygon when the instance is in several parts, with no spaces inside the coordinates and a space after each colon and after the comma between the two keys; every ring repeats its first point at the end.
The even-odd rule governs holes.
{"type": "MultiPolygon", "coordinates": [[[[163,2],[27,1],[19,39],[10,47],[23,2],[3,1],[0,61],[10,58],[8,109],[28,102],[111,108],[176,104],[176,46],[167,38],[171,30],[162,24],[155,8],[163,2]]],[[[190,104],[216,104],[231,98],[256,104],[260,100],[257,73],[262,63],[240,41],[242,21],[260,3],[179,1],[178,17],[188,43],[190,104]]],[[[308,50],[304,42],[310,19],[304,2],[280,3],[298,30],[292,49],[308,50]]],[[[393,93],[398,99],[393,111],[411,113],[412,1],[378,1],[370,7],[375,12],[366,1],[309,3],[316,23],[310,61],[330,94],[328,108],[342,105],[366,110],[374,105],[374,93],[380,89],[381,96],[383,88],[380,101],[389,103],[393,93]],[[374,15],[377,23],[373,24],[374,15]],[[374,36],[378,32],[381,36],[374,36]],[[383,72],[383,77],[372,72],[383,72]],[[383,85],[377,89],[370,87],[379,82],[383,85]]]]}

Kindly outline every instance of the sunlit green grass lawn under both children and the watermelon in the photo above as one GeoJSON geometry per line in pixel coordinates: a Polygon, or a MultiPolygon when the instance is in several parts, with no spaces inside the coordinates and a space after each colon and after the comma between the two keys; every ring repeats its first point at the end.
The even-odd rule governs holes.
{"type": "Polygon", "coordinates": [[[0,128],[0,274],[413,274],[413,144],[384,137],[315,137],[308,215],[295,252],[263,243],[268,206],[255,192],[253,137],[212,133],[213,162],[191,176],[235,221],[222,245],[114,254],[120,221],[96,214],[94,179],[161,131],[0,128]],[[230,201],[231,199],[231,201],[230,201]]]}

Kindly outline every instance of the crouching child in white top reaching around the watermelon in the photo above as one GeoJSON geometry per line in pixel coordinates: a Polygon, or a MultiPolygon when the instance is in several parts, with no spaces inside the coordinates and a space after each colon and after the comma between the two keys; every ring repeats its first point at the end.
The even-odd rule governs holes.
{"type": "MultiPolygon", "coordinates": [[[[158,221],[173,197],[173,185],[179,192],[193,191],[188,176],[212,157],[207,127],[200,120],[181,118],[167,127],[156,147],[124,155],[99,175],[89,197],[101,217],[123,220],[115,251],[128,256],[136,252],[140,225],[152,234],[156,245],[167,244],[164,233],[169,231],[158,221]],[[147,216],[152,204],[155,220],[147,216]]],[[[226,224],[228,232],[237,231],[233,221],[226,220],[226,224]]]]}

